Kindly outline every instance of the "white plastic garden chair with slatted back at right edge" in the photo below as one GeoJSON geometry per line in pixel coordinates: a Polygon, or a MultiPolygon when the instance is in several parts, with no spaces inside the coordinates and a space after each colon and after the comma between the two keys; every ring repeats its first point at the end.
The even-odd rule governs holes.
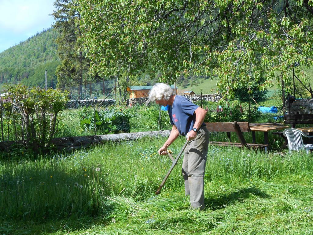
{"type": "Polygon", "coordinates": [[[303,144],[302,139],[302,136],[306,138],[313,138],[313,135],[308,136],[302,131],[294,128],[285,129],[283,135],[287,137],[289,153],[291,150],[299,151],[304,149],[306,153],[309,154],[310,149],[313,149],[313,144],[303,144]]]}

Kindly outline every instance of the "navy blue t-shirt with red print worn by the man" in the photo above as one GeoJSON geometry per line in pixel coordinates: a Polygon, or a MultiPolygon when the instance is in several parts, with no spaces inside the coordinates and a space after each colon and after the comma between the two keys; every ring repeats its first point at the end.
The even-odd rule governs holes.
{"type": "MultiPolygon", "coordinates": [[[[183,96],[176,96],[173,105],[168,108],[168,115],[170,122],[175,125],[181,135],[186,136],[192,130],[196,121],[196,114],[194,113],[198,105],[193,104],[189,99],[183,96]]],[[[205,126],[202,123],[201,127],[205,126]]]]}

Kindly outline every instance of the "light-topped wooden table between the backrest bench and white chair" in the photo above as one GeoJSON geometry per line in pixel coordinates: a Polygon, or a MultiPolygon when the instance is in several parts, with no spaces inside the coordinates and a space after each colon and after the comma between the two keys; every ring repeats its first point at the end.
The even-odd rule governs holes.
{"type": "MultiPolygon", "coordinates": [[[[264,133],[264,144],[269,144],[269,131],[282,130],[288,128],[280,123],[250,123],[250,130],[252,131],[252,143],[255,143],[255,132],[261,131],[264,133]]],[[[313,129],[312,129],[313,131],[313,129]]],[[[267,147],[264,148],[265,153],[267,152],[267,147]]]]}

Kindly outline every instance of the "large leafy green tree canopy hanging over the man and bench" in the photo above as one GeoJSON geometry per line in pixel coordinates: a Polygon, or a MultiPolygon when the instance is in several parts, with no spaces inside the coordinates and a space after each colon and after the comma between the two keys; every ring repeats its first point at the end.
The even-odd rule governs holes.
{"type": "Polygon", "coordinates": [[[305,80],[313,65],[311,0],[77,0],[80,41],[94,72],[217,75],[219,91],[305,80]],[[295,63],[301,66],[294,67],[295,63]]]}

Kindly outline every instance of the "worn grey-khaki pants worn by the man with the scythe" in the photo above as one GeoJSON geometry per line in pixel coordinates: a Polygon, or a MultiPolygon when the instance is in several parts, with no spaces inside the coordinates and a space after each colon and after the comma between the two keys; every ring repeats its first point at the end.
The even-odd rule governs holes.
{"type": "Polygon", "coordinates": [[[185,194],[190,195],[190,206],[200,210],[205,207],[203,178],[207,162],[208,142],[209,132],[206,127],[202,127],[196,138],[187,145],[182,162],[185,194]]]}

